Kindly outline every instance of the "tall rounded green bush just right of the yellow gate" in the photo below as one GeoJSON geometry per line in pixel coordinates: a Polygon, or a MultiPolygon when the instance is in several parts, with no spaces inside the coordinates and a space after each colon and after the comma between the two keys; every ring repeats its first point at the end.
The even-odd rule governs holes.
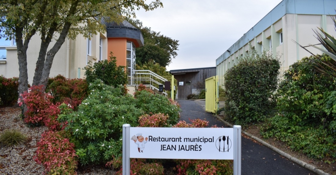
{"type": "Polygon", "coordinates": [[[250,54],[225,73],[225,115],[240,124],[263,121],[274,112],[280,62],[271,53],[250,54]]]}

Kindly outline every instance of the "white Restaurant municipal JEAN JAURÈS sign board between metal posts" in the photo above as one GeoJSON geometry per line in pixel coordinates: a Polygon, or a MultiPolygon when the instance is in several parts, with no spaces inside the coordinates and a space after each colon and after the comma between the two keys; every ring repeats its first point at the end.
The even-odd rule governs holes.
{"type": "Polygon", "coordinates": [[[233,128],[130,127],[130,158],[234,159],[233,128]]]}

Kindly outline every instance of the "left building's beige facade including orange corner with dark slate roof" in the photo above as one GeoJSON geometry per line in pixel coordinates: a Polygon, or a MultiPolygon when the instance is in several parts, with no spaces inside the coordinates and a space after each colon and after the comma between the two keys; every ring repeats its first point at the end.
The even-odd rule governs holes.
{"type": "MultiPolygon", "coordinates": [[[[54,42],[50,43],[51,46],[54,42]]],[[[32,84],[41,39],[33,36],[27,50],[28,82],[32,84]]],[[[107,25],[107,32],[93,35],[91,39],[78,35],[76,39],[67,39],[56,53],[49,77],[58,74],[66,78],[83,78],[89,62],[95,63],[110,58],[110,53],[117,58],[117,64],[126,66],[129,73],[135,64],[135,48],[143,46],[141,32],[127,21],[107,25]]],[[[48,48],[48,49],[50,49],[48,48]]],[[[18,77],[19,66],[17,48],[14,41],[0,39],[0,75],[6,78],[18,77]]]]}

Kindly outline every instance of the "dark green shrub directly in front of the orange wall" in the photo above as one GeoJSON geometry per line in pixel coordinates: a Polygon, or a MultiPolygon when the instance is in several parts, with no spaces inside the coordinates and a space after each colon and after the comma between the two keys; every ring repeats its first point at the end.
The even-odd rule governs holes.
{"type": "Polygon", "coordinates": [[[112,53],[109,60],[99,61],[94,63],[93,66],[89,65],[84,69],[88,83],[101,79],[104,84],[117,87],[128,82],[125,66],[117,66],[116,57],[113,57],[112,53]]]}

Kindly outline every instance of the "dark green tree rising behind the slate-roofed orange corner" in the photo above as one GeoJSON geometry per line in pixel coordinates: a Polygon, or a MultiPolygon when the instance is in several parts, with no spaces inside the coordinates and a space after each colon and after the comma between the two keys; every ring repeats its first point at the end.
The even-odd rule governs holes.
{"type": "Polygon", "coordinates": [[[144,64],[150,60],[166,67],[171,63],[172,58],[177,56],[178,40],[161,35],[160,32],[154,32],[150,27],[144,27],[142,22],[129,19],[129,22],[140,29],[144,46],[136,48],[136,64],[144,64]]]}

